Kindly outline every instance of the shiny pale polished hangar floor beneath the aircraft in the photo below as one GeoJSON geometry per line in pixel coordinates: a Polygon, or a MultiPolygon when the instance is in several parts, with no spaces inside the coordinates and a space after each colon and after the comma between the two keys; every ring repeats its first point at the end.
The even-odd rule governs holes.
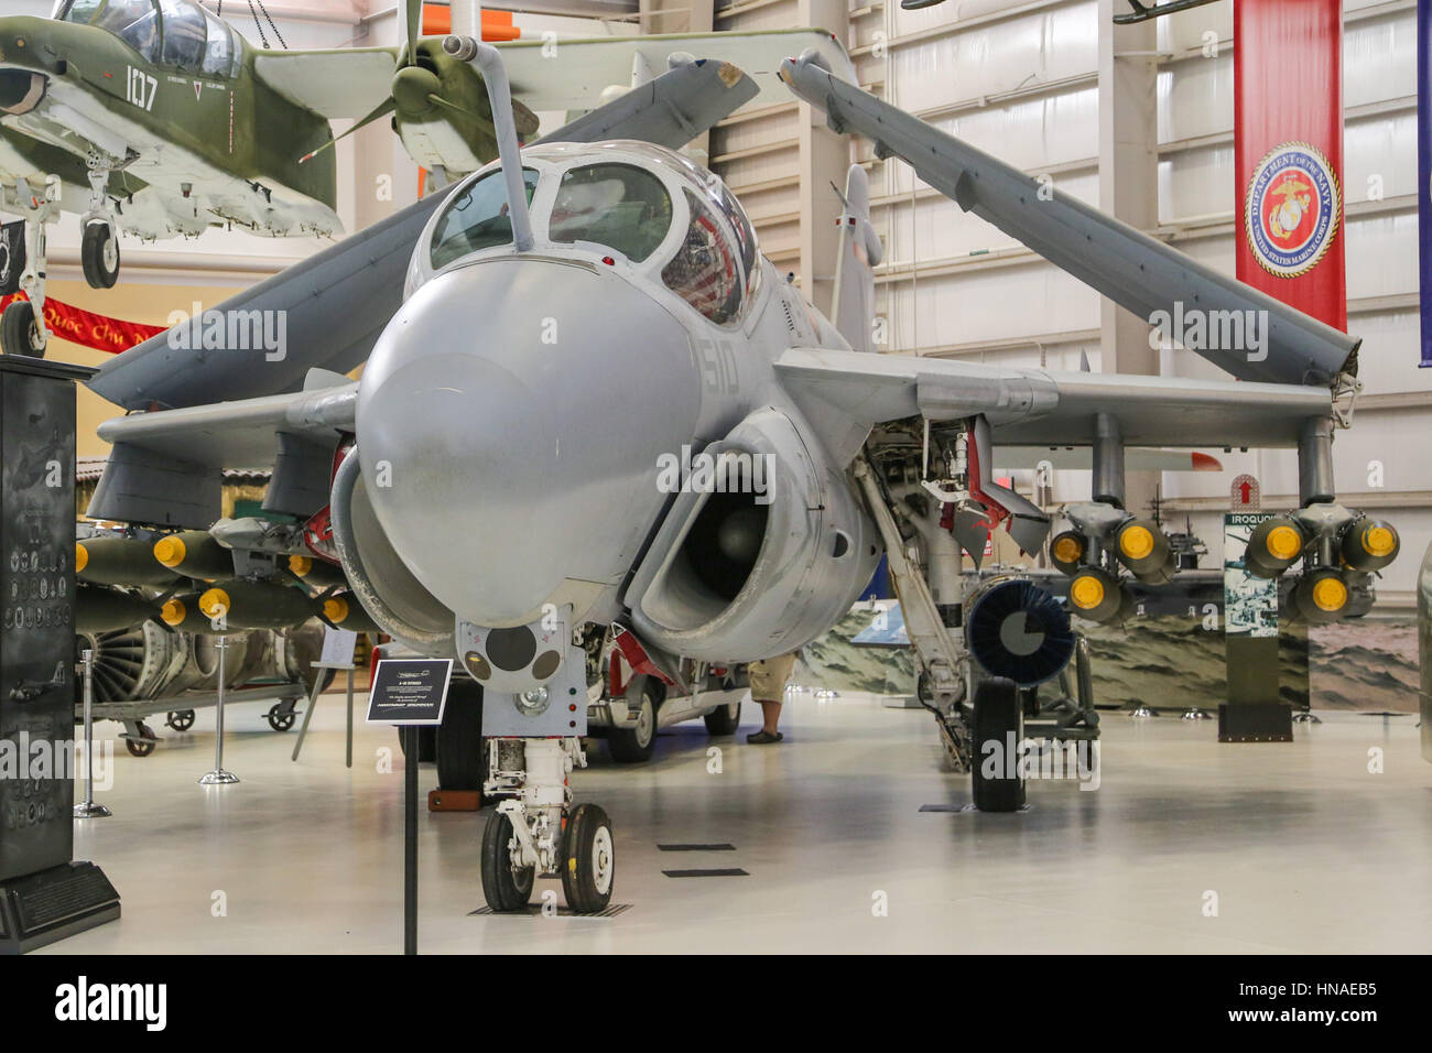
{"type": "MultiPolygon", "coordinates": [[[[670,729],[637,768],[597,746],[574,776],[613,817],[629,905],[613,917],[473,914],[485,812],[424,811],[420,948],[1432,951],[1432,765],[1413,716],[1219,745],[1213,722],[1107,713],[1100,789],[1032,782],[1032,807],[1007,815],[921,811],[969,791],[919,711],[798,695],[779,746],[746,745],[750,703],[745,718],[736,739],[670,729]],[[672,842],[735,850],[659,851],[672,842]],[[663,875],[693,868],[746,875],[663,875]]],[[[97,795],[115,815],[77,824],[76,858],[105,867],[123,918],[53,950],[401,951],[401,754],[379,772],[395,735],[359,723],[348,771],[342,726],[325,696],[292,764],[296,732],[235,708],[225,766],[242,782],[223,788],[196,785],[212,712],[146,759],[120,749],[97,795]]]]}

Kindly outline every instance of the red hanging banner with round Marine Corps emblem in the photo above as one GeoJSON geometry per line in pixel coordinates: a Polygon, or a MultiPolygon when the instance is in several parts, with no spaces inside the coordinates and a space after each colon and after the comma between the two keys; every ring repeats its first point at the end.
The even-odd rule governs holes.
{"type": "Polygon", "coordinates": [[[1239,279],[1348,328],[1340,0],[1233,4],[1239,279]]]}

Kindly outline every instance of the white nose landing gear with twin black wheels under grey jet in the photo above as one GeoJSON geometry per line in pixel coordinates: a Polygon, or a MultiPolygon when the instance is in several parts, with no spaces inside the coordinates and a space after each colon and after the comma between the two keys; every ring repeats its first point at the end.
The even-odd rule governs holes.
{"type": "Polygon", "coordinates": [[[521,910],[538,875],[560,875],[574,913],[606,910],[616,877],[611,819],[594,804],[573,805],[567,778],[587,766],[581,739],[494,738],[487,748],[483,795],[501,798],[483,831],[487,905],[521,910]]]}

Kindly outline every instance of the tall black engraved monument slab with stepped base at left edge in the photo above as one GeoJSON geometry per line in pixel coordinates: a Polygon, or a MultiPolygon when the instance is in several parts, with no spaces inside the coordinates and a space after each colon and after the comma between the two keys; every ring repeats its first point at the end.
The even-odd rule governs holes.
{"type": "MultiPolygon", "coordinates": [[[[74,381],[0,355],[0,953],[119,917],[74,852],[74,381]]],[[[84,819],[80,819],[83,822],[84,819]]]]}

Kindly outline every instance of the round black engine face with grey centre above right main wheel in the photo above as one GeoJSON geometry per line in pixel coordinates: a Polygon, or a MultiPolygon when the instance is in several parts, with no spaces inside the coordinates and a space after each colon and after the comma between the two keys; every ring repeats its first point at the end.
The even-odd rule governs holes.
{"type": "Polygon", "coordinates": [[[1074,656],[1068,613],[1025,577],[982,585],[967,610],[965,642],[991,676],[1032,688],[1058,676],[1074,656]]]}

